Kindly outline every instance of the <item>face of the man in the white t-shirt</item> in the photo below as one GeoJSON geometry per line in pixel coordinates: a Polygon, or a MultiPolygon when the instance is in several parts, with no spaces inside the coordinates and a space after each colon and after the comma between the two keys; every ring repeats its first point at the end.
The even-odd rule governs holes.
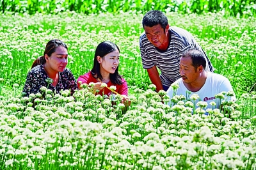
{"type": "Polygon", "coordinates": [[[191,84],[199,77],[199,67],[195,69],[190,57],[180,58],[180,76],[186,84],[191,84]]]}

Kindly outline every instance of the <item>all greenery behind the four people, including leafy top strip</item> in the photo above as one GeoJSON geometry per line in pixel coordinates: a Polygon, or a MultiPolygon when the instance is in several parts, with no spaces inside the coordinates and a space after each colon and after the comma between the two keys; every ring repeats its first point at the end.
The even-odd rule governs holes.
{"type": "Polygon", "coordinates": [[[237,95],[255,90],[256,4],[252,0],[0,0],[0,76],[6,86],[24,84],[45,42],[59,38],[74,56],[68,68],[77,79],[92,68],[88,59],[97,44],[112,40],[123,49],[120,73],[129,86],[147,89],[150,80],[141,65],[138,40],[143,33],[141,19],[152,9],[165,12],[170,26],[198,38],[215,72],[230,79],[237,95]]]}

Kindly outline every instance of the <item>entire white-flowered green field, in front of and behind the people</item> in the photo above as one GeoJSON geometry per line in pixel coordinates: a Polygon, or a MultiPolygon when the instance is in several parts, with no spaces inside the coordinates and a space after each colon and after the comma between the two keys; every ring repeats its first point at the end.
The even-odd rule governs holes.
{"type": "Polygon", "coordinates": [[[150,85],[138,44],[143,14],[0,15],[0,169],[256,169],[256,18],[166,13],[170,26],[195,36],[236,93],[237,102],[221,93],[223,110],[205,111],[193,97],[166,105],[168,96],[150,85]],[[76,79],[92,69],[100,42],[115,42],[132,100],[127,111],[120,98],[112,105],[87,87],[75,98],[45,88],[22,98],[33,61],[54,38],[67,43],[76,79]]]}

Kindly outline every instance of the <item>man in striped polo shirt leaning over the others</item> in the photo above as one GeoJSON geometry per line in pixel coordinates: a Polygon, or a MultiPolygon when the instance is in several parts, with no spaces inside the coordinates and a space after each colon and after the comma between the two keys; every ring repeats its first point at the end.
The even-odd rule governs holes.
{"type": "Polygon", "coordinates": [[[163,12],[147,12],[142,25],[145,30],[140,36],[142,64],[157,91],[167,91],[170,85],[180,78],[179,61],[185,50],[193,48],[203,52],[207,61],[205,70],[213,72],[211,61],[193,36],[180,27],[170,27],[163,12]],[[160,76],[157,68],[161,71],[160,76]]]}

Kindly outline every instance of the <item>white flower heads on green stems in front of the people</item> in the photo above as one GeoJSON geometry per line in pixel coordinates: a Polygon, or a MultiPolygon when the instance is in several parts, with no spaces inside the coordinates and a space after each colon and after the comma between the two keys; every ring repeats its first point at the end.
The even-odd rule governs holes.
{"type": "Polygon", "coordinates": [[[95,96],[89,90],[76,91],[76,97],[63,91],[48,100],[40,94],[1,98],[1,166],[19,165],[25,169],[57,165],[74,169],[255,166],[254,95],[247,95],[245,100],[254,104],[252,115],[243,109],[246,103],[229,102],[223,102],[223,108],[227,107],[223,110],[205,110],[207,103],[197,102],[191,114],[193,102],[179,97],[169,106],[163,102],[168,98],[166,94],[152,89],[138,97],[131,96],[134,103],[122,112],[124,104],[113,105],[108,98],[95,96]],[[91,164],[92,161],[95,163],[91,164]]]}

